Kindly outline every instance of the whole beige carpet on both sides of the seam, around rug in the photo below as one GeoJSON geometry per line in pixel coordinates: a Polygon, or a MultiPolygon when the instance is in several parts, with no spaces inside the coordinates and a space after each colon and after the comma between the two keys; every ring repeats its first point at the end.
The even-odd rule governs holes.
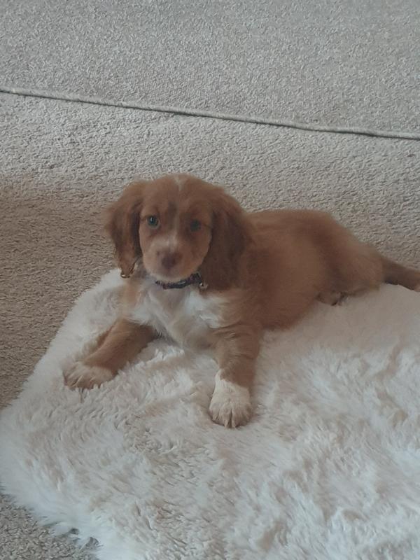
{"type": "MultiPolygon", "coordinates": [[[[2,0],[0,86],[420,130],[418,2],[377,0],[365,15],[342,3],[276,6],[2,0]]],[[[111,267],[99,211],[134,176],[193,172],[249,209],[328,209],[388,255],[420,264],[418,141],[11,94],[0,94],[0,130],[2,405],[74,297],[111,267]]],[[[87,557],[6,499],[0,507],[1,560],[87,557]]]]}

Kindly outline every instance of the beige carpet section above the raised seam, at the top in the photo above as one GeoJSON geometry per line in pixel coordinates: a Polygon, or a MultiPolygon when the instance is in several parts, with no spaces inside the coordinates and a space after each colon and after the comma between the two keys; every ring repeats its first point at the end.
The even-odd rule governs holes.
{"type": "Polygon", "coordinates": [[[420,135],[418,0],[0,0],[0,85],[420,135]]]}

